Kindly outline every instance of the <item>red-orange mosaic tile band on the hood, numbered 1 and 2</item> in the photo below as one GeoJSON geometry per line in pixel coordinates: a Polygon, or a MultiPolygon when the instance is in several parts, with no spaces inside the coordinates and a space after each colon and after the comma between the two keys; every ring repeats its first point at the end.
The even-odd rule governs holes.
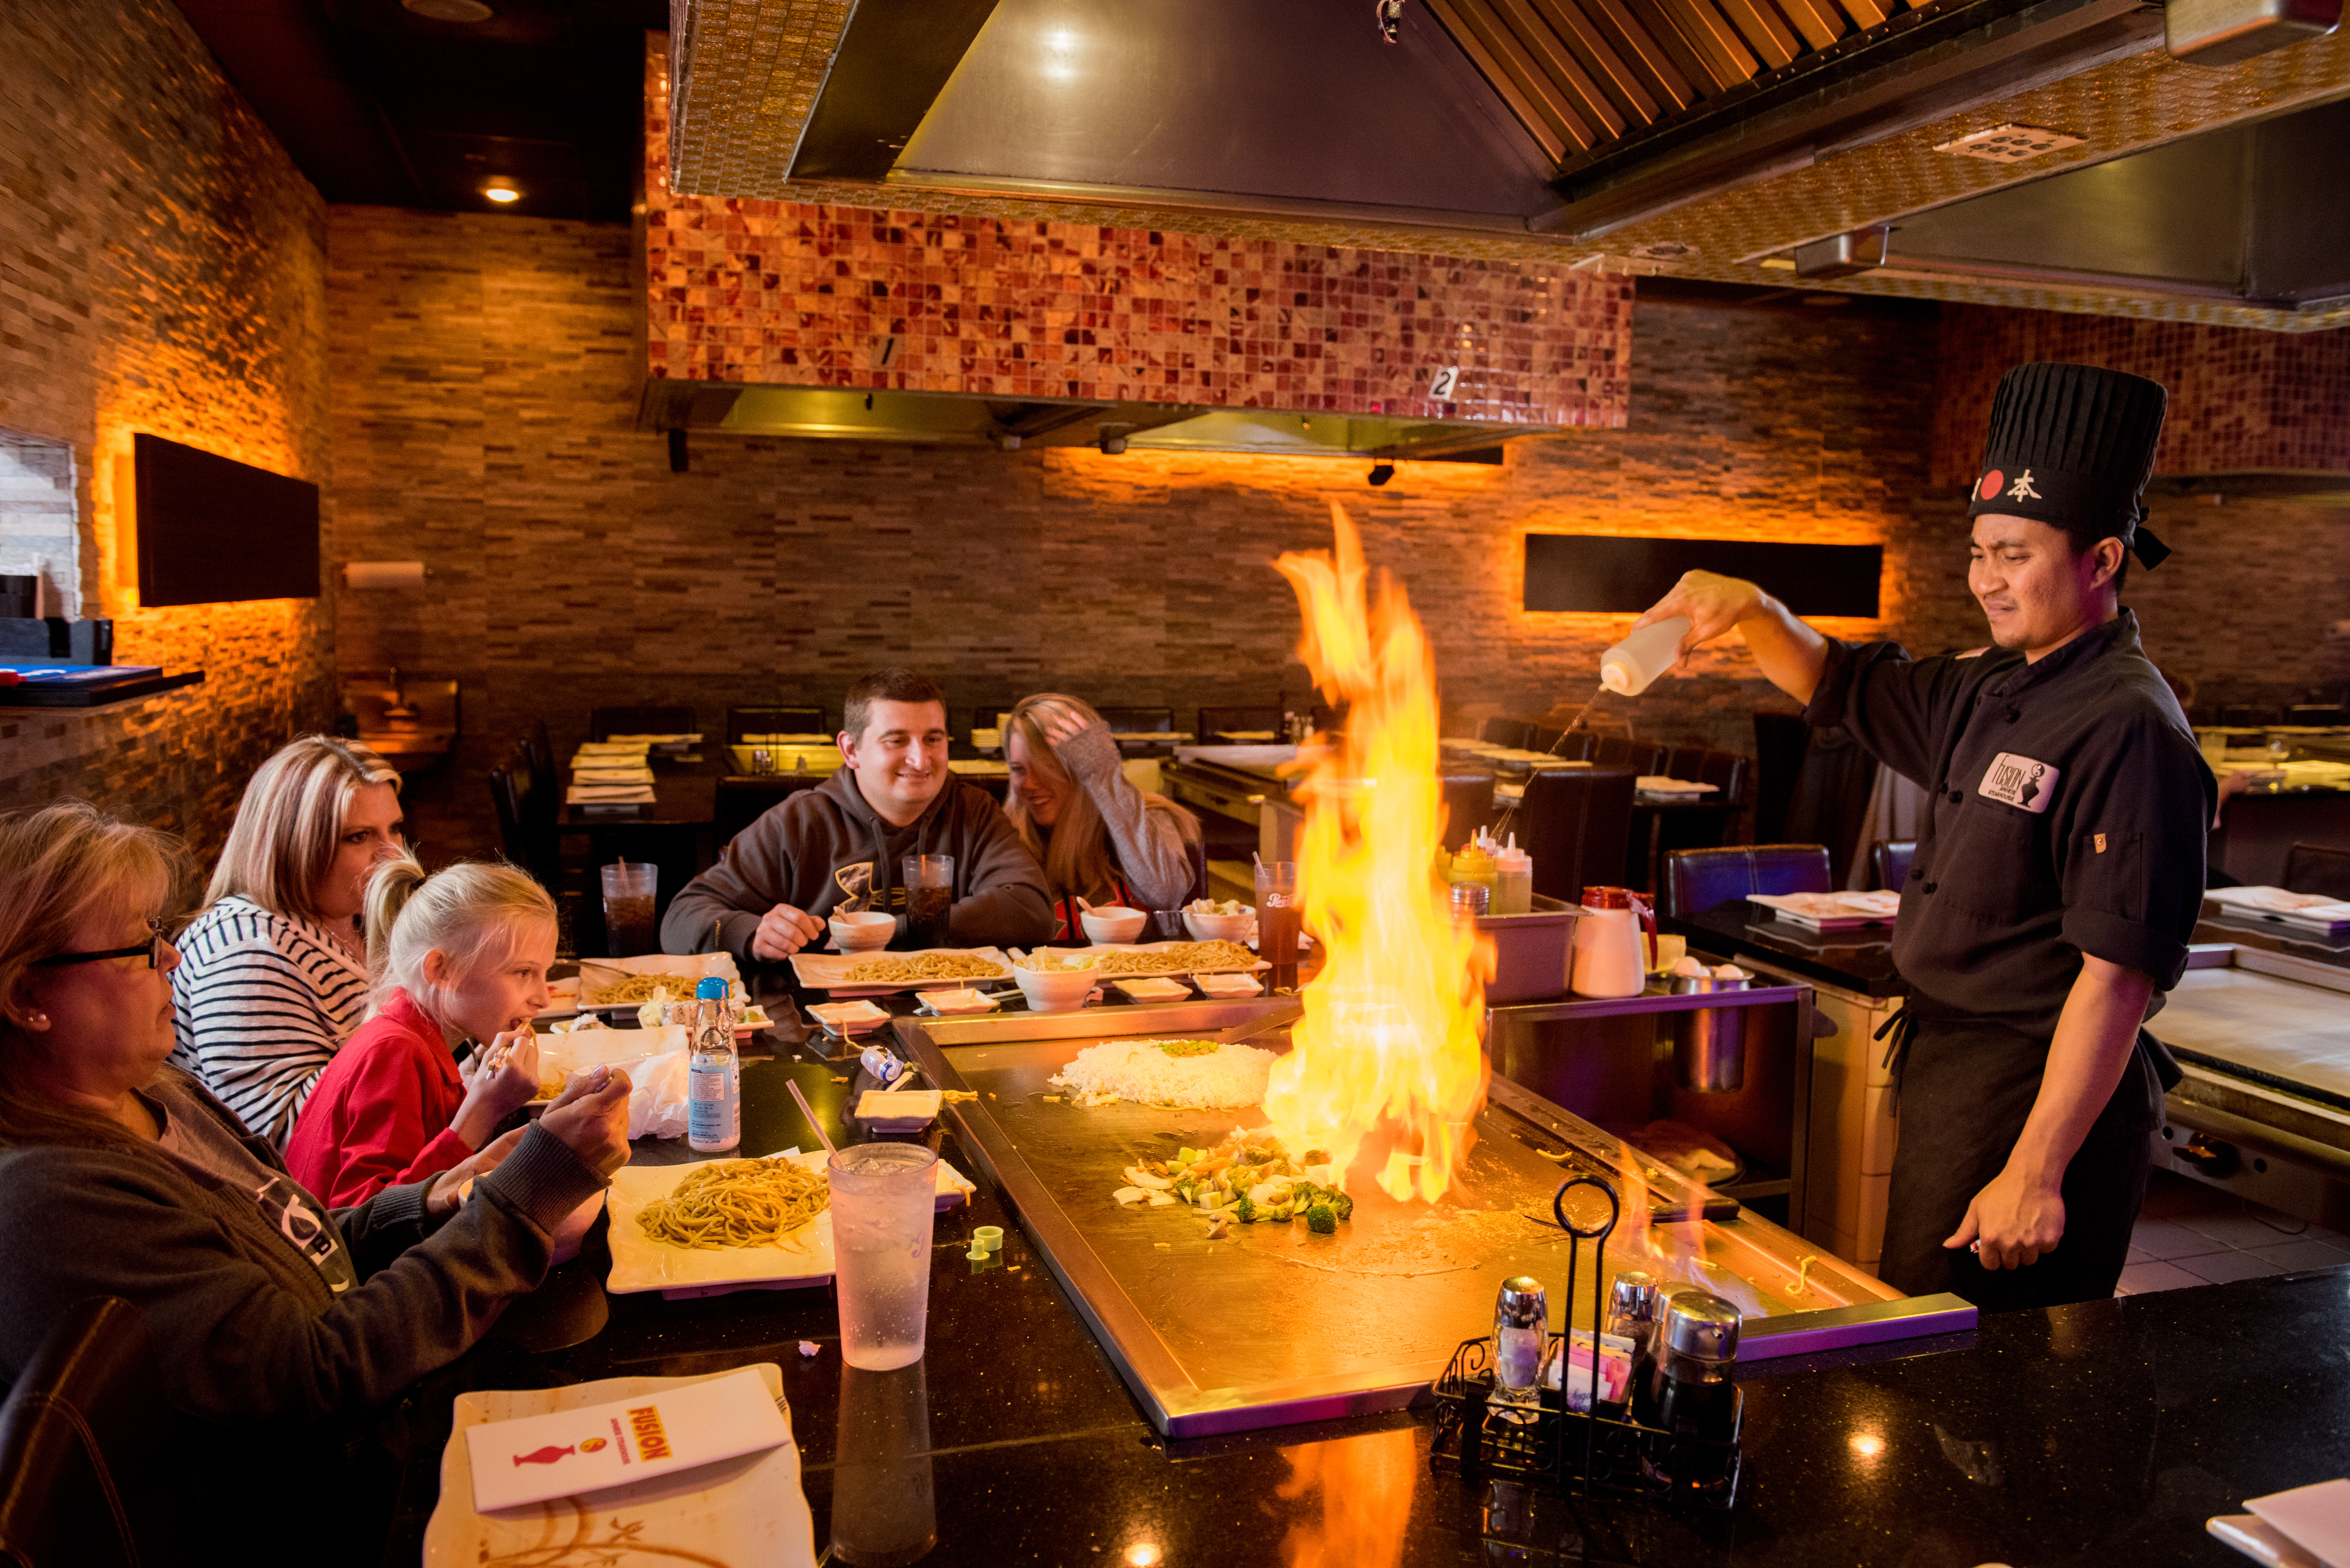
{"type": "Polygon", "coordinates": [[[1631,284],[971,214],[677,195],[646,66],[649,369],[679,381],[1624,423],[1631,284]],[[1459,367],[1457,400],[1431,400],[1459,367]]]}

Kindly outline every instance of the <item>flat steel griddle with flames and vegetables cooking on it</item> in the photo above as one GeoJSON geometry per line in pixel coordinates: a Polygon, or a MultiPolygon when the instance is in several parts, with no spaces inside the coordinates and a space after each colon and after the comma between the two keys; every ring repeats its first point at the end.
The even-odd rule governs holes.
{"type": "MultiPolygon", "coordinates": [[[[1184,1143],[1208,1147],[1234,1126],[1262,1126],[1262,1112],[1079,1107],[1048,1100],[1060,1091],[1046,1079],[1104,1039],[1201,1037],[1292,1006],[1184,1001],[895,1023],[933,1081],[978,1091],[947,1117],[1170,1436],[1408,1406],[1459,1340],[1490,1328],[1495,1286],[1509,1274],[1549,1284],[1553,1314],[1563,1312],[1567,1246],[1551,1222],[1551,1194],[1563,1171],[1612,1171],[1622,1154],[1589,1121],[1495,1079],[1476,1150],[1434,1208],[1396,1204],[1356,1175],[1354,1218],[1335,1237],[1304,1225],[1236,1225],[1229,1239],[1208,1241],[1182,1206],[1112,1201],[1135,1159],[1166,1159],[1184,1143]]],[[[1250,1044],[1285,1051],[1288,1037],[1250,1044]]],[[[1678,1175],[1640,1164],[1657,1206],[1690,1201],[1678,1175]]],[[[1748,1359],[1974,1324],[1974,1307],[1958,1298],[1901,1298],[1751,1213],[1680,1225],[1697,1253],[1678,1267],[1643,1258],[1636,1229],[1612,1237],[1607,1272],[1659,1267],[1730,1295],[1748,1316],[1748,1359]]],[[[1589,1321],[1589,1295],[1579,1316],[1589,1321]]]]}

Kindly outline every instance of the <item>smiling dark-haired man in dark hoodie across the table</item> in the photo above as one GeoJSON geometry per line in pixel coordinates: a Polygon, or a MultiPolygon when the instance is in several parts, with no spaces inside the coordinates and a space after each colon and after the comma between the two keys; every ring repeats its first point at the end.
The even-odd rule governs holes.
{"type": "Polygon", "coordinates": [[[905,945],[900,856],[954,856],[956,945],[1027,945],[1053,936],[1043,870],[1003,809],[947,771],[947,703],[914,670],[877,670],[841,705],[839,773],[792,795],[736,835],[719,863],[689,882],[660,922],[670,952],[724,947],[738,961],[780,964],[825,938],[825,914],[846,882],[872,889],[867,907],[898,914],[905,945]]]}

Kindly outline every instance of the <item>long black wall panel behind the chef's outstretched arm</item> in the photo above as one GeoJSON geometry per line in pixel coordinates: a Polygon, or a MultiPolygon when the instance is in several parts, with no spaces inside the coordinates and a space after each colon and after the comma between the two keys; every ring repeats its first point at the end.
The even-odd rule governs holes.
{"type": "Polygon", "coordinates": [[[1760,583],[1762,592],[1798,616],[1873,621],[1885,545],[1528,534],[1525,607],[1631,616],[1671,592],[1680,574],[1692,569],[1760,583]]]}

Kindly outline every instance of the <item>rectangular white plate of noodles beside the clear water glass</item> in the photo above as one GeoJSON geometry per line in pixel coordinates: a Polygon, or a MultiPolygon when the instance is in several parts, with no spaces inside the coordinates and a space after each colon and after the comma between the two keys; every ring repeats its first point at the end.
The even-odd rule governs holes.
{"type": "Polygon", "coordinates": [[[611,1211],[613,1295],[790,1291],[832,1279],[825,1152],[620,1166],[611,1211]]]}

